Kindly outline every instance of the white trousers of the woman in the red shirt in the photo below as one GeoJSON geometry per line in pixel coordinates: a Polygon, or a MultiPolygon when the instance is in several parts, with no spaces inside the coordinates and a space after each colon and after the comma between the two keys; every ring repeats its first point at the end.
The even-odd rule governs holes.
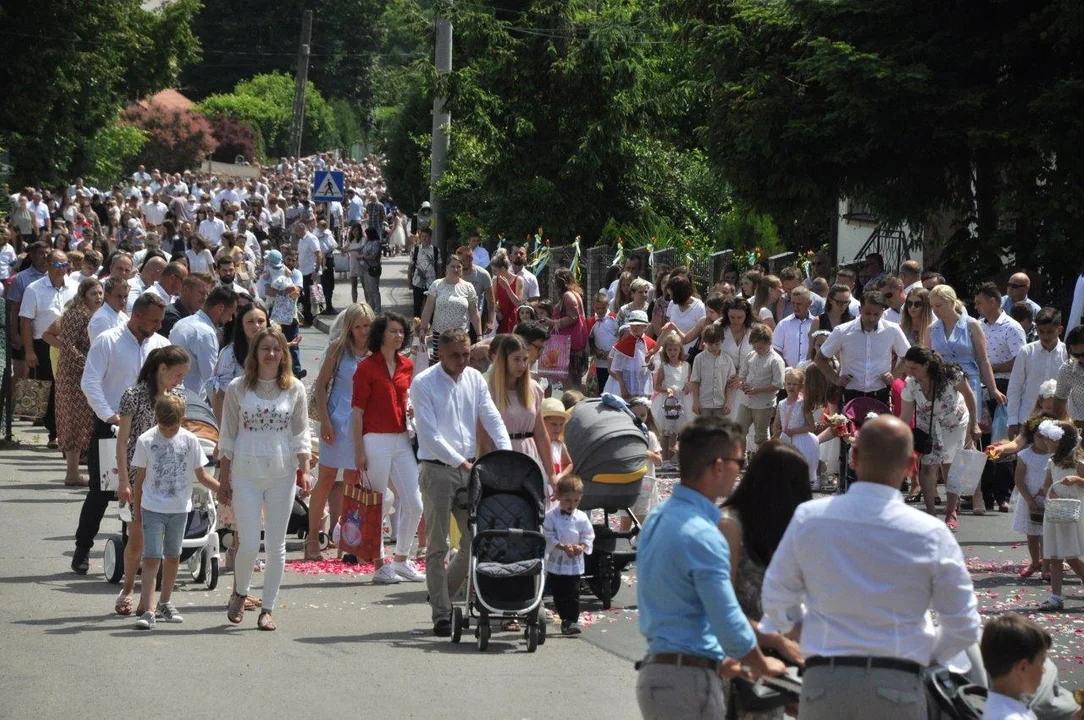
{"type": "MultiPolygon", "coordinates": [[[[388,491],[390,483],[401,505],[392,517],[396,524],[396,554],[409,555],[422,520],[422,490],[417,485],[417,460],[406,433],[367,433],[361,437],[367,470],[363,479],[376,492],[388,491]]],[[[382,544],[383,552],[383,544],[382,544]]]]}

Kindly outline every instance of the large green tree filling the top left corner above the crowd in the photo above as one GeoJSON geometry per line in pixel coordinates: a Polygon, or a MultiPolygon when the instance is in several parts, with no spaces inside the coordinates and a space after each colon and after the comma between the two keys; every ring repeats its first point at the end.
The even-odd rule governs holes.
{"type": "Polygon", "coordinates": [[[130,101],[199,57],[189,30],[199,0],[145,11],[140,0],[5,2],[0,136],[13,181],[55,183],[95,169],[91,142],[130,101]]]}

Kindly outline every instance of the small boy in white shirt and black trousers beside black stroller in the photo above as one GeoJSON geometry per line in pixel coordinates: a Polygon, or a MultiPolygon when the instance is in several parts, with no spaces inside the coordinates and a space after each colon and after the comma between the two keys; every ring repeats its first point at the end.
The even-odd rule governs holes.
{"type": "Polygon", "coordinates": [[[553,604],[560,616],[560,634],[578,635],[580,629],[580,576],[583,556],[595,542],[591,518],[580,510],[583,480],[566,475],[557,480],[557,506],[545,515],[545,582],[553,593],[553,604]]]}

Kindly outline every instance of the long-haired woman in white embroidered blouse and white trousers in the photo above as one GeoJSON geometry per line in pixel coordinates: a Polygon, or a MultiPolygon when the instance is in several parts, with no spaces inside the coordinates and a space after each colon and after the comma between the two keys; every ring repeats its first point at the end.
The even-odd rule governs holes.
{"type": "Polygon", "coordinates": [[[271,613],[286,566],[286,524],[294,492],[298,486],[302,493],[312,487],[305,386],[291,372],[286,338],[276,329],[261,330],[253,337],[244,374],[225,390],[219,451],[219,496],[225,502],[232,499],[240,536],[236,590],[230,596],[227,618],[237,623],[244,617],[260,549],[261,515],[266,515],[267,574],[257,627],[274,630],[271,613]]]}

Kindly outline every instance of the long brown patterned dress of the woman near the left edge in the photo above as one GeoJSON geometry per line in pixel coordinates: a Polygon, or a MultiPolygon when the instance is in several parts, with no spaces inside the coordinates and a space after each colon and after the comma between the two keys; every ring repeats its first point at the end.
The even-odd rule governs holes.
{"type": "Polygon", "coordinates": [[[82,452],[90,447],[94,412],[87,402],[87,396],[79,387],[82,370],[90,351],[90,309],[73,305],[61,318],[60,338],[63,348],[56,365],[56,440],[61,452],[82,452]],[[78,353],[69,348],[75,347],[78,353]]]}

